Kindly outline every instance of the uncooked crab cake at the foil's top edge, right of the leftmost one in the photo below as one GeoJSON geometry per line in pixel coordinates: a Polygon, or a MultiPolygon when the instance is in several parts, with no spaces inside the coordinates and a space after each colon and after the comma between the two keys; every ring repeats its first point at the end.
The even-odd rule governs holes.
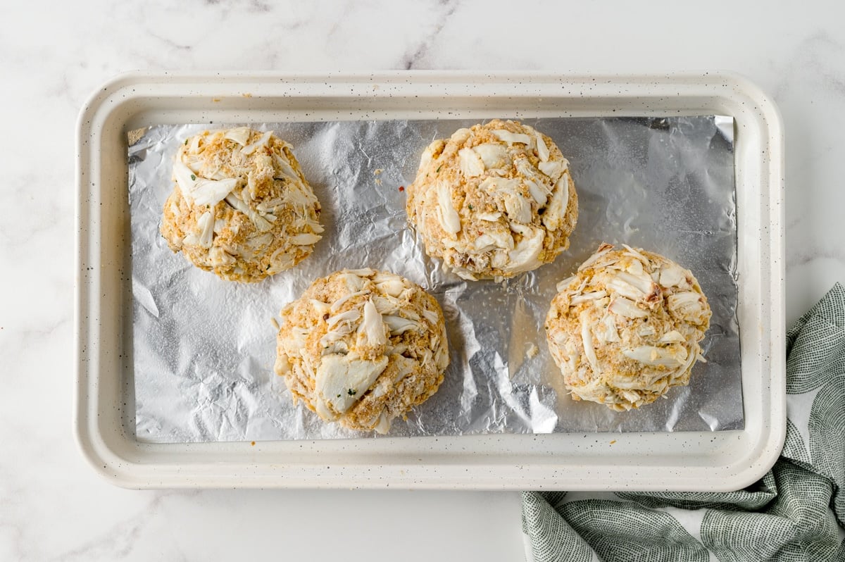
{"type": "Polygon", "coordinates": [[[503,279],[569,248],[578,197],[569,161],[515,121],[461,128],[423,152],[407,189],[426,254],[464,279],[503,279]]]}

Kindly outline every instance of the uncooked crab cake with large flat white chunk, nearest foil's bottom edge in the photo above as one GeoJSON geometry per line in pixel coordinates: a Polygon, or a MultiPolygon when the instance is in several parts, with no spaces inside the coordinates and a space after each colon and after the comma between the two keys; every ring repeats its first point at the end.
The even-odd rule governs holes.
{"type": "Polygon", "coordinates": [[[294,403],[357,430],[391,421],[437,391],[449,349],[443,312],[386,271],[342,270],[281,310],[275,373],[294,403]]]}

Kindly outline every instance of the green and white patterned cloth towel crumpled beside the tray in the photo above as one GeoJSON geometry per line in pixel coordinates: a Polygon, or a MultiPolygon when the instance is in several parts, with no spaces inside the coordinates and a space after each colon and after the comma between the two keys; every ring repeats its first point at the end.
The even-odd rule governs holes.
{"type": "Polygon", "coordinates": [[[787,393],[786,443],[760,482],[712,494],[523,492],[526,558],[845,562],[845,288],[838,283],[788,331],[787,393]]]}

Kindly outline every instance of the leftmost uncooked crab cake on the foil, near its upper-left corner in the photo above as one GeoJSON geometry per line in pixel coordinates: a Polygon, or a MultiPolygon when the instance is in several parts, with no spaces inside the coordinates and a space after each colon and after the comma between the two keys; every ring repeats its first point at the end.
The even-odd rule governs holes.
{"type": "Polygon", "coordinates": [[[247,127],[185,139],[161,235],[227,281],[261,281],[297,265],[320,239],[320,205],[291,145],[247,127]]]}

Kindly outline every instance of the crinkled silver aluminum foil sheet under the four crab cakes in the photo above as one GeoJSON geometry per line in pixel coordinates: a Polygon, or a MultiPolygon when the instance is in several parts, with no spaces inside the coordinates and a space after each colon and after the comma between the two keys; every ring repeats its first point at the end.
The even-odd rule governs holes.
{"type": "Polygon", "coordinates": [[[406,276],[444,308],[450,367],[440,390],[391,436],[743,428],[736,320],[731,117],[521,119],[570,160],[580,216],[570,251],[510,281],[444,273],[406,224],[403,187],[436,138],[467,120],[156,125],[130,135],[136,438],[144,442],[372,438],[293,406],[273,374],[271,318],[317,277],[372,267],[406,276]],[[324,238],[293,270],[254,285],[221,281],[159,234],[178,145],[249,124],[294,146],[323,205],[324,238]],[[692,270],[713,317],[690,386],[640,410],[573,401],[542,325],[555,284],[602,242],[628,243],[692,270]],[[537,354],[532,349],[537,346],[537,354]]]}

